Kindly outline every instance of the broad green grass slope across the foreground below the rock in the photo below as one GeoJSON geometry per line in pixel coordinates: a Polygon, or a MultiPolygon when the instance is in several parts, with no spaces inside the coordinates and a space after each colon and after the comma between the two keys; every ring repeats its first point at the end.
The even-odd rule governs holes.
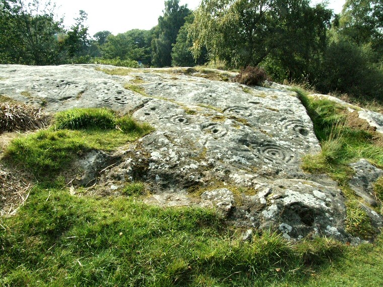
{"type": "MultiPolygon", "coordinates": [[[[92,138],[89,129],[81,132],[81,143],[92,138]]],[[[65,146],[72,139],[54,140],[65,146]]],[[[36,147],[41,138],[16,142],[28,141],[36,147]]],[[[14,142],[10,149],[17,159],[21,147],[14,142]]],[[[345,166],[343,160],[324,159],[331,159],[330,171],[345,166]]],[[[29,169],[34,172],[33,165],[29,169]]],[[[136,200],[141,189],[127,184],[124,194],[130,196],[93,198],[81,189],[70,195],[57,180],[55,187],[36,184],[16,216],[0,219],[0,285],[383,285],[382,236],[374,244],[349,247],[327,239],[292,245],[266,232],[244,243],[242,231],[225,226],[215,211],[148,206],[136,200]]]]}

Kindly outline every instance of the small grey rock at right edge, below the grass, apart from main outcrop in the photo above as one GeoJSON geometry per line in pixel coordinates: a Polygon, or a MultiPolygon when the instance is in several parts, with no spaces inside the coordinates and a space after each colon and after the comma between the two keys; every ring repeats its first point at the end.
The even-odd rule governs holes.
{"type": "Polygon", "coordinates": [[[374,167],[365,159],[352,163],[350,166],[355,171],[355,175],[349,181],[351,189],[369,205],[377,206],[379,203],[373,191],[372,184],[383,175],[383,171],[374,167]]]}

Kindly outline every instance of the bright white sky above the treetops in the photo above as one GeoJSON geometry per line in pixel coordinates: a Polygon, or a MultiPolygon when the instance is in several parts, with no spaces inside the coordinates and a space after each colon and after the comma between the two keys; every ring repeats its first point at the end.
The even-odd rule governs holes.
{"type": "MultiPolygon", "coordinates": [[[[187,4],[189,9],[196,9],[201,0],[180,0],[179,5],[187,4]]],[[[112,34],[124,33],[132,29],[149,30],[157,25],[157,19],[163,15],[164,0],[52,0],[58,9],[56,12],[65,17],[64,24],[70,27],[80,10],[88,14],[89,35],[99,31],[110,31],[112,34]]],[[[312,0],[320,3],[322,0],[312,0]]],[[[329,9],[335,13],[342,11],[345,0],[328,1],[329,9]]]]}

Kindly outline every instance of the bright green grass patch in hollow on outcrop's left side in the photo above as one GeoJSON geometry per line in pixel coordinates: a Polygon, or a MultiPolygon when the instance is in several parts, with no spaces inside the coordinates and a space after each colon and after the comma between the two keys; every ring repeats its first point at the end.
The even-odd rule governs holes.
{"type": "Polygon", "coordinates": [[[88,151],[112,151],[152,130],[106,109],[68,110],[56,115],[50,129],[12,140],[4,159],[37,180],[49,181],[70,170],[73,160],[88,151]]]}

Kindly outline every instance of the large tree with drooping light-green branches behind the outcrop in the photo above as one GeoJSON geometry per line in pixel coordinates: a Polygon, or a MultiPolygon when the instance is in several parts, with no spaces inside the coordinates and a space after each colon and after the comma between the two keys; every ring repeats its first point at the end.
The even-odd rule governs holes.
{"type": "MultiPolygon", "coordinates": [[[[331,13],[325,12],[308,0],[203,0],[190,27],[192,51],[198,57],[206,46],[210,58],[234,67],[267,57],[307,58],[307,48],[313,51],[326,37],[331,13]]],[[[283,64],[293,70],[295,62],[283,64]]]]}

